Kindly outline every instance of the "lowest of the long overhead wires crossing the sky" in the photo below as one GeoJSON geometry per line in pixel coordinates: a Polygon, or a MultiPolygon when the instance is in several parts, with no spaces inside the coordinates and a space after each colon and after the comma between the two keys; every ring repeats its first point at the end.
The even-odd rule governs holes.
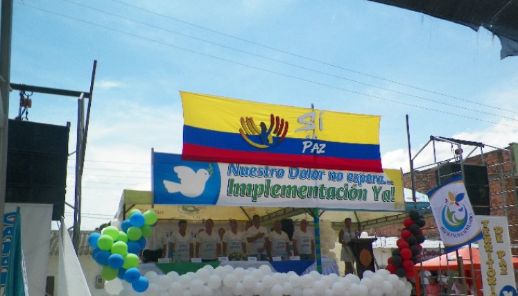
{"type": "Polygon", "coordinates": [[[497,122],[494,122],[494,121],[478,119],[476,117],[466,116],[466,115],[463,115],[463,114],[456,114],[454,112],[446,112],[446,111],[442,111],[442,110],[433,109],[433,108],[430,108],[430,107],[423,107],[423,106],[414,105],[414,104],[411,104],[411,103],[404,103],[404,102],[401,102],[401,101],[392,100],[390,98],[383,98],[381,96],[374,96],[374,95],[370,95],[370,94],[364,94],[362,92],[356,92],[356,91],[353,91],[351,89],[345,89],[343,87],[337,87],[335,85],[328,85],[328,84],[323,83],[323,82],[309,80],[307,78],[300,78],[300,77],[297,77],[297,76],[293,76],[291,74],[282,73],[282,72],[278,72],[278,71],[273,71],[273,70],[270,70],[270,69],[264,69],[264,68],[261,68],[261,67],[252,66],[250,64],[245,64],[245,63],[242,63],[242,62],[236,62],[234,60],[229,60],[227,58],[221,58],[221,57],[218,57],[216,55],[210,55],[208,53],[202,53],[200,51],[194,51],[192,49],[187,49],[187,48],[184,48],[182,46],[178,46],[178,45],[171,44],[171,43],[168,43],[168,42],[163,42],[163,41],[160,41],[160,40],[155,40],[155,39],[150,38],[150,37],[145,37],[145,36],[137,35],[135,33],[130,33],[130,32],[122,31],[122,30],[119,30],[119,29],[116,29],[116,28],[111,28],[109,26],[105,26],[105,25],[101,25],[101,24],[96,24],[96,23],[94,23],[92,21],[87,21],[86,19],[78,19],[78,18],[74,18],[74,17],[69,17],[68,15],[63,15],[60,12],[54,12],[54,11],[51,11],[51,10],[46,10],[44,8],[33,6],[33,5],[30,5],[30,4],[27,4],[27,3],[22,3],[22,4],[24,6],[26,6],[26,7],[30,7],[30,8],[36,9],[36,10],[47,12],[47,13],[50,13],[50,14],[53,14],[53,15],[58,15],[60,17],[64,17],[64,18],[67,18],[67,19],[72,19],[74,21],[83,22],[85,24],[90,24],[92,26],[97,26],[97,27],[100,27],[100,28],[105,28],[106,30],[113,31],[113,32],[116,32],[116,33],[121,33],[123,35],[128,35],[128,36],[131,36],[131,37],[139,38],[141,40],[146,40],[146,41],[149,41],[149,42],[154,42],[154,43],[157,43],[157,44],[162,44],[162,45],[165,45],[165,46],[172,47],[174,49],[178,49],[178,50],[181,50],[181,51],[187,51],[189,53],[194,53],[194,54],[197,54],[197,55],[202,55],[202,56],[205,56],[205,57],[208,57],[208,58],[214,58],[216,60],[221,60],[221,61],[229,62],[229,63],[232,63],[232,64],[238,64],[240,66],[248,67],[250,69],[257,69],[259,71],[264,71],[266,73],[273,73],[273,74],[275,74],[277,76],[283,76],[283,77],[286,77],[286,78],[293,78],[295,80],[309,82],[309,83],[312,83],[314,85],[320,85],[320,86],[328,87],[328,88],[331,88],[331,89],[337,89],[337,90],[340,90],[340,91],[343,91],[343,92],[348,92],[348,93],[351,93],[351,94],[358,94],[360,96],[365,96],[365,97],[368,97],[368,98],[377,98],[377,99],[382,100],[382,101],[388,101],[388,102],[391,102],[391,103],[397,103],[397,104],[400,104],[400,105],[406,105],[406,106],[410,106],[410,107],[417,107],[417,108],[420,108],[422,110],[439,112],[439,113],[442,113],[442,114],[449,114],[449,115],[453,115],[453,116],[457,116],[457,117],[462,117],[462,118],[465,118],[465,119],[472,119],[472,120],[475,120],[475,121],[481,121],[481,122],[485,122],[485,123],[492,123],[494,125],[503,125],[503,126],[508,126],[508,127],[511,127],[511,128],[518,128],[515,125],[508,125],[508,124],[505,124],[505,123],[497,123],[497,122]]]}

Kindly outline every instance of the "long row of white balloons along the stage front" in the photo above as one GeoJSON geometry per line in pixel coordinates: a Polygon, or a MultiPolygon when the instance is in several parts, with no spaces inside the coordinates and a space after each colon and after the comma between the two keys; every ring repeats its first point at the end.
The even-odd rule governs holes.
{"type": "MultiPolygon", "coordinates": [[[[167,275],[146,272],[149,288],[145,296],[407,296],[412,286],[406,279],[391,275],[388,270],[366,271],[363,279],[356,275],[320,275],[316,271],[299,276],[295,272],[273,272],[268,265],[259,268],[213,268],[205,265],[196,272],[167,275]]],[[[114,279],[105,284],[112,295],[136,296],[126,283],[114,279]]]]}

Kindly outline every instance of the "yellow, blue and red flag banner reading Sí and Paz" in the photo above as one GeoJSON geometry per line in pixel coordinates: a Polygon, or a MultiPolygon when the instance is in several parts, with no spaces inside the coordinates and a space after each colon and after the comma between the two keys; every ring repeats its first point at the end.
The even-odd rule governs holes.
{"type": "Polygon", "coordinates": [[[180,96],[182,159],[383,172],[379,116],[180,96]]]}

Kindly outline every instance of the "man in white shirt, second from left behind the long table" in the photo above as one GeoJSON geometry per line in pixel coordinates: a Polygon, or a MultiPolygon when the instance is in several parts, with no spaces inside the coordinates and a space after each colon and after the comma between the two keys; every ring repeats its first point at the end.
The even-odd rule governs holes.
{"type": "Polygon", "coordinates": [[[205,221],[205,231],[199,232],[196,238],[196,257],[202,262],[216,261],[221,254],[221,241],[217,232],[214,232],[214,221],[205,221]]]}

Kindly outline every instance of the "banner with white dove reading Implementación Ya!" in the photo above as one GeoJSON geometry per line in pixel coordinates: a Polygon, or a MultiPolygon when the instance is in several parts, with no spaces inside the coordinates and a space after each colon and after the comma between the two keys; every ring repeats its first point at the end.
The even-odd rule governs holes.
{"type": "Polygon", "coordinates": [[[166,153],[153,153],[153,195],[155,204],[404,210],[399,170],[360,173],[190,162],[166,153]]]}

